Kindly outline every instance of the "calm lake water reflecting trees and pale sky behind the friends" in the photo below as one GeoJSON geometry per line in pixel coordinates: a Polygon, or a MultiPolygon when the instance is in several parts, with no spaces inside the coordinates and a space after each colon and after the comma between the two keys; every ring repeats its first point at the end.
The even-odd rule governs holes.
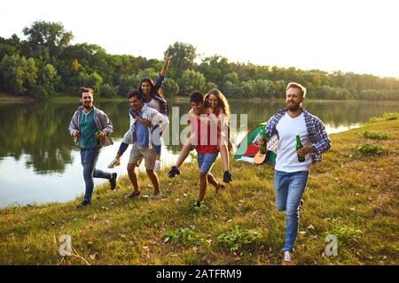
{"type": "MultiPolygon", "coordinates": [[[[102,149],[98,169],[108,170],[106,165],[113,159],[124,132],[129,127],[128,103],[98,103],[113,122],[113,146],[102,149]]],[[[84,193],[82,165],[79,149],[74,146],[68,131],[76,103],[0,103],[0,207],[27,203],[66,202],[84,193]]],[[[177,121],[169,126],[164,139],[176,140],[176,133],[184,129],[184,113],[188,102],[169,103],[177,121]],[[179,125],[181,124],[181,125],[179,125]]],[[[241,141],[246,130],[270,118],[280,102],[231,102],[231,113],[237,114],[237,129],[232,126],[232,142],[241,141]],[[240,114],[246,114],[240,116],[240,114]]],[[[358,127],[371,117],[384,112],[399,111],[399,103],[345,103],[307,102],[305,108],[322,119],[329,134],[358,127]]],[[[175,141],[176,143],[176,141],[175,141]]],[[[163,146],[162,164],[169,166],[176,161],[180,145],[163,146]]],[[[129,149],[121,159],[121,166],[113,171],[126,174],[129,149]]],[[[143,166],[144,164],[142,164],[143,166]]],[[[95,184],[106,180],[95,179],[95,184]]]]}

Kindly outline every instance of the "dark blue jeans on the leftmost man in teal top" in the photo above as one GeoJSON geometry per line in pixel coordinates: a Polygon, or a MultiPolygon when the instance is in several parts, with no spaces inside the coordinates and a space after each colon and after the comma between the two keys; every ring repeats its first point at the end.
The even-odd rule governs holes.
{"type": "Polygon", "coordinates": [[[86,183],[86,193],[84,200],[90,202],[91,195],[93,194],[94,181],[93,178],[111,179],[111,173],[102,172],[96,169],[98,155],[101,148],[82,149],[81,160],[83,165],[83,179],[86,183]]]}

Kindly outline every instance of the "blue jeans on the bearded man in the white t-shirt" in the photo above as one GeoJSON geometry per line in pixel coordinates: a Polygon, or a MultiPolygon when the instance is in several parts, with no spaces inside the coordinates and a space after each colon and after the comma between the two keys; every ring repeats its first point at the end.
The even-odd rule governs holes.
{"type": "Polygon", "coordinates": [[[284,251],[293,252],[298,235],[301,198],[308,182],[309,171],[274,172],[276,204],[279,211],[286,210],[286,245],[284,251]]]}

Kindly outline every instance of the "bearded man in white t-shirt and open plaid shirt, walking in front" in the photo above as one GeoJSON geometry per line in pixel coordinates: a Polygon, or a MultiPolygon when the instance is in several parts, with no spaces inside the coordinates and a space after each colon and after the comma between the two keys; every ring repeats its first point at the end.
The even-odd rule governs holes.
{"type": "MultiPolygon", "coordinates": [[[[293,264],[293,243],[298,234],[301,197],[308,182],[310,164],[320,162],[322,153],[331,147],[323,122],[302,108],[305,96],[306,88],[290,82],[286,87],[286,108],[272,116],[265,126],[269,141],[274,135],[278,137],[274,187],[277,209],[286,210],[285,265],[293,264]],[[303,145],[298,150],[297,135],[303,145]],[[305,156],[305,161],[300,162],[298,156],[305,156]]],[[[264,143],[260,134],[254,143],[264,143]]]]}

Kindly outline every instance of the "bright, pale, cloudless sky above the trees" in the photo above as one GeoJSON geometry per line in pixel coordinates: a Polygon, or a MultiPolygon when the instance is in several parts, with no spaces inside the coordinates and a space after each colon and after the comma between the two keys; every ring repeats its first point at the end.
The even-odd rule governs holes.
{"type": "Polygon", "coordinates": [[[163,57],[174,42],[201,57],[399,78],[396,0],[6,0],[0,36],[59,21],[74,42],[163,57]]]}

